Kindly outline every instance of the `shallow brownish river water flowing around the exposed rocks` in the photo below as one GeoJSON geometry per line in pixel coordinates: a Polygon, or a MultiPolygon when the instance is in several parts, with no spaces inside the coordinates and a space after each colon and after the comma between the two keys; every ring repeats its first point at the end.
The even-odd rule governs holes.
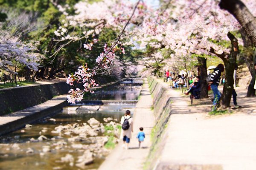
{"type": "MultiPolygon", "coordinates": [[[[118,123],[126,109],[133,113],[135,108],[134,102],[125,102],[126,100],[137,100],[140,94],[140,86],[118,85],[105,88],[98,91],[96,95],[90,96],[91,100],[108,99],[108,105],[73,105],[63,109],[54,116],[47,117],[32,124],[32,127],[26,127],[0,137],[0,170],[78,170],[78,169],[97,169],[104,161],[103,154],[94,153],[93,164],[84,168],[76,166],[78,157],[84,154],[84,147],[94,144],[91,140],[85,139],[79,142],[70,142],[69,138],[74,134],[52,133],[55,127],[59,125],[79,125],[82,126],[90,118],[95,118],[103,125],[104,118],[111,117],[112,122],[118,123]],[[120,87],[122,86],[122,87],[120,87]],[[111,90],[115,89],[115,90],[111,90]],[[114,100],[122,100],[115,102],[114,100]],[[51,119],[53,118],[53,119],[51,119]],[[38,141],[38,137],[44,135],[46,140],[38,141]],[[31,139],[35,139],[35,141],[31,139]],[[63,143],[57,145],[57,143],[63,143]],[[80,145],[79,145],[80,144],[80,145]],[[57,147],[60,147],[57,149],[57,147]],[[48,151],[44,151],[49,148],[48,151]],[[30,150],[30,153],[28,153],[30,150]],[[61,161],[61,158],[70,154],[73,161],[61,161]],[[73,162],[71,164],[70,162],[73,162]]],[[[109,121],[110,122],[110,121],[109,121]]],[[[109,123],[108,122],[108,123],[109,123]]],[[[105,133],[98,133],[98,136],[105,136],[105,133]]]]}

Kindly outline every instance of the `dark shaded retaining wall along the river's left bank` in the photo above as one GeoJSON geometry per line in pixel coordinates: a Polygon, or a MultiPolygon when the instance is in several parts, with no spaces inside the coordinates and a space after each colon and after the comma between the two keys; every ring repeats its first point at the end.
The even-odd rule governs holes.
{"type": "MultiPolygon", "coordinates": [[[[114,80],[102,77],[98,78],[97,82],[102,85],[114,80]]],[[[66,82],[57,82],[47,85],[0,89],[0,116],[41,104],[54,96],[67,94],[70,88],[71,86],[66,82]]],[[[79,84],[79,88],[82,89],[81,84],[79,84]]]]}

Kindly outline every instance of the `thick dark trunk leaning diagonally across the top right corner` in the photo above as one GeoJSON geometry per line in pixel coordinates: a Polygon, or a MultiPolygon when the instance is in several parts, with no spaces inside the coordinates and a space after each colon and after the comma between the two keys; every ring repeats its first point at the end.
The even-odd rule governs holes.
{"type": "Polygon", "coordinates": [[[256,47],[256,18],[244,3],[241,0],[221,0],[219,6],[221,9],[229,11],[236,18],[256,47]]]}

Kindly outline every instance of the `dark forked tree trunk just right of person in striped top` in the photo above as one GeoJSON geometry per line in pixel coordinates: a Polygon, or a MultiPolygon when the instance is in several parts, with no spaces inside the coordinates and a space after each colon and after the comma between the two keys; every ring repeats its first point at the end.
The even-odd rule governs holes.
{"type": "Polygon", "coordinates": [[[217,54],[213,48],[210,52],[220,57],[225,65],[225,83],[223,87],[223,98],[221,99],[221,106],[227,108],[230,106],[230,99],[232,96],[232,91],[234,89],[234,70],[236,65],[236,57],[239,53],[238,41],[236,37],[230,32],[227,34],[227,37],[231,41],[231,50],[230,54],[223,52],[222,54],[217,54]]]}

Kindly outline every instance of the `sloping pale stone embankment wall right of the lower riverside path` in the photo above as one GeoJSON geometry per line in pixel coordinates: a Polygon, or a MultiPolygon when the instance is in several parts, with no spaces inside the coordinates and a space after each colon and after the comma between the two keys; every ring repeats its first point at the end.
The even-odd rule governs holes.
{"type": "Polygon", "coordinates": [[[157,160],[165,144],[165,130],[171,116],[172,101],[170,91],[167,87],[163,87],[159,80],[154,77],[148,77],[148,83],[153,97],[156,125],[151,132],[152,145],[146,160],[145,169],[152,170],[157,165],[157,160]]]}

